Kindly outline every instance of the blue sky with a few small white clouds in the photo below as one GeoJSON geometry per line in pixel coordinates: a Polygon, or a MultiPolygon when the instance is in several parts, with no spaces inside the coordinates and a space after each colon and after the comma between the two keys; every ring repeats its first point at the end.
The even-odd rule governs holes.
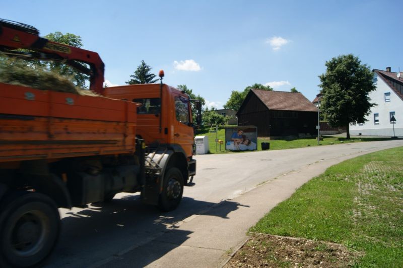
{"type": "Polygon", "coordinates": [[[254,83],[319,92],[325,61],[353,53],[403,70],[403,1],[2,0],[0,18],[81,36],[123,85],[145,60],[164,82],[186,84],[220,109],[254,83]]]}

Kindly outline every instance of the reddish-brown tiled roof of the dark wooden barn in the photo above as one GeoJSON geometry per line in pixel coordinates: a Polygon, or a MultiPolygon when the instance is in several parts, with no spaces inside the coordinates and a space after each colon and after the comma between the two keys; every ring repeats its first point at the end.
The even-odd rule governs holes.
{"type": "Polygon", "coordinates": [[[252,90],[270,110],[317,112],[317,108],[302,93],[252,90]]]}

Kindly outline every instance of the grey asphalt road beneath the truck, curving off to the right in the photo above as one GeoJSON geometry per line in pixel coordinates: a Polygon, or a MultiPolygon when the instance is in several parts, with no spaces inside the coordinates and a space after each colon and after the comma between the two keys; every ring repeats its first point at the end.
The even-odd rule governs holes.
{"type": "MultiPolygon", "coordinates": [[[[258,185],[272,181],[289,172],[332,159],[346,159],[376,150],[403,146],[403,140],[346,143],[299,149],[197,155],[195,186],[185,187],[179,208],[161,213],[152,206],[143,205],[139,195],[119,194],[111,203],[91,205],[86,209],[60,209],[62,233],[46,267],[116,266],[119,256],[132,250],[152,248],[156,238],[170,232],[175,240],[172,247],[160,254],[147,256],[132,266],[146,266],[163,258],[175,245],[187,239],[186,231],[172,232],[178,222],[191,222],[194,215],[209,214],[223,200],[230,200],[258,185]]],[[[258,198],[258,197],[256,197],[258,198]]],[[[228,203],[230,204],[230,203],[228,203]]],[[[226,206],[226,211],[211,212],[211,216],[226,218],[237,207],[226,206]]],[[[197,226],[194,232],[203,231],[197,226]]],[[[143,251],[142,251],[143,252],[143,251]]],[[[175,266],[175,261],[168,263],[175,266]]]]}

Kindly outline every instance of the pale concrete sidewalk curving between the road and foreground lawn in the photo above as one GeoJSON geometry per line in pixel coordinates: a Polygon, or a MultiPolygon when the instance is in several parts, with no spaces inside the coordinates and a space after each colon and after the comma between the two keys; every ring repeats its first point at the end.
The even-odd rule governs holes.
{"type": "Polygon", "coordinates": [[[102,266],[220,267],[247,240],[246,231],[297,188],[329,166],[366,153],[326,159],[283,174],[170,226],[147,244],[121,252],[102,266]]]}

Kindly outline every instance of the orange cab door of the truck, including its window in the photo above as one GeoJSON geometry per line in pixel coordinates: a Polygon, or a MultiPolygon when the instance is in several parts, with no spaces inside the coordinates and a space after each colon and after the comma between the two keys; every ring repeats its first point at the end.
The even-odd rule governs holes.
{"type": "Polygon", "coordinates": [[[179,94],[174,94],[175,119],[174,142],[180,144],[186,152],[186,156],[193,154],[193,127],[190,120],[190,102],[179,94]]]}

